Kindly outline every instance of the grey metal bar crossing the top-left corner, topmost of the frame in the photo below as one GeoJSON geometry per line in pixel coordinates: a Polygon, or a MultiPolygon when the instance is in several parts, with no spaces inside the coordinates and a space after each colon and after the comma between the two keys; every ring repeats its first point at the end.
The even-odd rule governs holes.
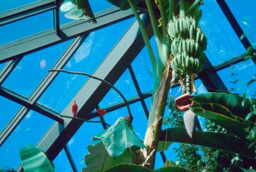
{"type": "Polygon", "coordinates": [[[31,3],[26,6],[21,6],[13,10],[0,13],[0,26],[21,20],[23,18],[38,15],[56,8],[53,0],[44,0],[36,3],[31,3]]]}

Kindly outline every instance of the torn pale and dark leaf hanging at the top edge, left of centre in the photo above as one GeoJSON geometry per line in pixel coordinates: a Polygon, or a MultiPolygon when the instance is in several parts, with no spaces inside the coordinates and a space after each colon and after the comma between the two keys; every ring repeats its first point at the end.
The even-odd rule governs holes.
{"type": "Polygon", "coordinates": [[[65,0],[61,3],[60,10],[65,13],[65,17],[74,20],[90,20],[97,23],[92,8],[88,0],[65,0]]]}

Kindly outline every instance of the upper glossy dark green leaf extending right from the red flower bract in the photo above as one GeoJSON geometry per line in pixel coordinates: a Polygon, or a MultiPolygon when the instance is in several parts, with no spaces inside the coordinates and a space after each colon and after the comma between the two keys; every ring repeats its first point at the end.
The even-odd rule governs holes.
{"type": "Polygon", "coordinates": [[[199,94],[193,99],[196,104],[200,103],[213,103],[220,104],[227,108],[232,114],[237,117],[245,119],[246,115],[250,113],[250,104],[255,101],[246,97],[237,96],[235,94],[227,94],[223,92],[210,92],[199,94]]]}

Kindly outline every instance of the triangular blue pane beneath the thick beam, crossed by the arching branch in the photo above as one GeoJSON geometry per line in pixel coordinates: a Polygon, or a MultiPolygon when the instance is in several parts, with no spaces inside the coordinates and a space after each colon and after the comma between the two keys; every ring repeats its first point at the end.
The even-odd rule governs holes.
{"type": "MultiPolygon", "coordinates": [[[[125,99],[129,99],[138,94],[128,69],[126,69],[114,86],[116,89],[120,90],[125,99]]],[[[111,89],[102,99],[102,101],[100,101],[99,106],[107,107],[122,101],[124,101],[124,99],[122,99],[122,97],[114,89],[111,89]]]]}

